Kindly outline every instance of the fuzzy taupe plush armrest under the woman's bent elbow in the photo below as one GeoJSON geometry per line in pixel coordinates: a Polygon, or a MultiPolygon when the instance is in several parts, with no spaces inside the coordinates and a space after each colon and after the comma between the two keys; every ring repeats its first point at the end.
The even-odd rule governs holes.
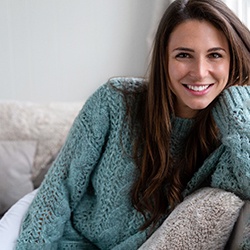
{"type": "Polygon", "coordinates": [[[187,196],[140,250],[224,249],[244,201],[203,188],[187,196]]]}

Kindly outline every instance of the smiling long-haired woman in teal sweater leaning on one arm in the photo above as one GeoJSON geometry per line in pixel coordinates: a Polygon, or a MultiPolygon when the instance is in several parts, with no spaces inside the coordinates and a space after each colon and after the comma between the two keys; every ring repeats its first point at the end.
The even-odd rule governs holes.
{"type": "Polygon", "coordinates": [[[221,1],[172,3],[148,79],[89,98],[17,249],[137,249],[200,187],[249,199],[249,58],[250,32],[221,1]]]}

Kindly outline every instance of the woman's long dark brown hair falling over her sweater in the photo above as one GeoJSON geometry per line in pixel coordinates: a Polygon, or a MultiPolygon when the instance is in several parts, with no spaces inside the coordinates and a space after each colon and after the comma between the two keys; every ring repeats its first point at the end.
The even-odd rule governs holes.
{"type": "Polygon", "coordinates": [[[211,103],[195,117],[181,160],[176,161],[170,153],[175,96],[168,85],[167,47],[176,26],[190,19],[208,21],[225,34],[230,48],[227,87],[243,84],[250,72],[249,30],[222,1],[176,0],[168,7],[155,36],[147,90],[136,115],[140,126],[135,134],[134,157],[140,175],[132,190],[132,202],[145,216],[142,229],[155,226],[182,200],[187,182],[219,145],[211,103]]]}

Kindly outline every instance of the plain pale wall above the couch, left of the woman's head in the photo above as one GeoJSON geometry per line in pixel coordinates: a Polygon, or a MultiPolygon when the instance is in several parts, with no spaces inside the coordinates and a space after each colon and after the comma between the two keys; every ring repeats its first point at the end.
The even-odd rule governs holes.
{"type": "Polygon", "coordinates": [[[142,76],[152,0],[0,0],[0,100],[80,101],[142,76]]]}

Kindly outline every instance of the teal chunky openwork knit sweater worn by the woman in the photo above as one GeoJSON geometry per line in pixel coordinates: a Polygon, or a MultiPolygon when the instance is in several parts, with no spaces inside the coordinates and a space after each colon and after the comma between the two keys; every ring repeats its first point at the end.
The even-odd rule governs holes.
{"type": "MultiPolygon", "coordinates": [[[[89,98],[29,208],[16,249],[135,250],[147,239],[147,230],[139,230],[143,216],[130,199],[138,172],[130,157],[131,132],[123,123],[123,96],[112,87],[121,82],[129,88],[143,84],[137,78],[111,79],[89,98]]],[[[184,195],[210,178],[212,187],[250,198],[249,99],[250,87],[223,92],[213,110],[222,144],[184,195]]],[[[173,152],[181,150],[191,126],[192,120],[173,120],[173,152]]]]}

